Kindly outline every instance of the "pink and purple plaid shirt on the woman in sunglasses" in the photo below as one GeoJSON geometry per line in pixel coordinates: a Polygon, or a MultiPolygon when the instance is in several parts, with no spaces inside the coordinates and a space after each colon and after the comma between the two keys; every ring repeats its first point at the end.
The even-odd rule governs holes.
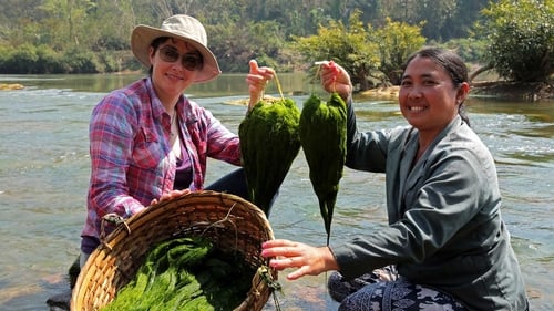
{"type": "MultiPolygon", "coordinates": [[[[207,157],[240,165],[238,136],[184,95],[176,105],[184,149],[193,168],[191,189],[202,189],[207,157]]],[[[100,237],[101,219],[127,218],[173,189],[176,158],[170,147],[170,115],[150,77],[107,94],[92,111],[92,162],[82,236],[100,237]]]]}

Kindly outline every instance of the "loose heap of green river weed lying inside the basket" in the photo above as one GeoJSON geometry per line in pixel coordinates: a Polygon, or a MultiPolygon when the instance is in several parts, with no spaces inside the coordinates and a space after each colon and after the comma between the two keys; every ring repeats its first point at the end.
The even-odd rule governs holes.
{"type": "Polygon", "coordinates": [[[102,311],[233,310],[246,298],[256,269],[239,252],[199,237],[158,243],[135,278],[102,311]]]}

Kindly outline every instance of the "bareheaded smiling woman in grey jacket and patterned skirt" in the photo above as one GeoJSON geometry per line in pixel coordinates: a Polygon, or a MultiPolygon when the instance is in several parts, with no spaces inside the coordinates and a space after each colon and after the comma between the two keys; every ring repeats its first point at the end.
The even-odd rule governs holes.
{"type": "MultiPolygon", "coordinates": [[[[321,65],[325,90],[351,102],[346,71],[321,65]]],[[[339,310],[526,310],[501,218],[494,159],[469,126],[468,70],[450,51],[408,59],[399,93],[410,126],[358,133],[349,104],[347,166],[384,173],[389,227],[330,247],[267,241],[287,278],[324,271],[339,310]]]]}

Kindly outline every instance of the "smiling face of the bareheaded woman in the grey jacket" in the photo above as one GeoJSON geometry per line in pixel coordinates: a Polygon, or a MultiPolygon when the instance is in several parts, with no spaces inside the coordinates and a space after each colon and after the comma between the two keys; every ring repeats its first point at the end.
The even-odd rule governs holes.
{"type": "Polygon", "coordinates": [[[402,75],[400,111],[420,133],[438,135],[458,114],[468,90],[466,83],[454,86],[451,75],[432,59],[416,56],[402,75]]]}

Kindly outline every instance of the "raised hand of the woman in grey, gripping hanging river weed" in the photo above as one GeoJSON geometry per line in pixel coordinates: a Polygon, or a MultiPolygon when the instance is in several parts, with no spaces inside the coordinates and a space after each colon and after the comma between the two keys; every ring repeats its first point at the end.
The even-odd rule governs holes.
{"type": "Polygon", "coordinates": [[[334,61],[320,62],[321,85],[325,91],[339,93],[340,97],[348,102],[352,95],[352,82],[348,72],[334,61]]]}

